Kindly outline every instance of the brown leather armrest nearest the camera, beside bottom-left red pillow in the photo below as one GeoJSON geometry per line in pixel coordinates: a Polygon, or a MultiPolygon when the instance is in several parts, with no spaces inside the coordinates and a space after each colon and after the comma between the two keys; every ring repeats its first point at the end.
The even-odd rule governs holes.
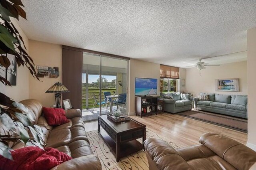
{"type": "Polygon", "coordinates": [[[101,163],[96,155],[81,156],[63,162],[50,170],[101,170],[101,163]]]}

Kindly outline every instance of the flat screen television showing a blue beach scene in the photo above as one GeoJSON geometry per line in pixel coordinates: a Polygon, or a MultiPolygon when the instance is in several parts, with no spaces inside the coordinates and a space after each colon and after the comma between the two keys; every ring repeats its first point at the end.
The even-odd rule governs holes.
{"type": "Polygon", "coordinates": [[[135,78],[135,95],[156,95],[157,79],[135,78]]]}

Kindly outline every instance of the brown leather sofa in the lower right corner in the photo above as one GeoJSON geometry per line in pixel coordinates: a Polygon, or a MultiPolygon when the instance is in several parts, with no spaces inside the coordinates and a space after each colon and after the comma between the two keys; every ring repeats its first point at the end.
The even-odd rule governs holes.
{"type": "Polygon", "coordinates": [[[256,152],[226,136],[203,134],[200,145],[175,150],[160,139],[144,142],[150,170],[252,170],[256,152]]]}

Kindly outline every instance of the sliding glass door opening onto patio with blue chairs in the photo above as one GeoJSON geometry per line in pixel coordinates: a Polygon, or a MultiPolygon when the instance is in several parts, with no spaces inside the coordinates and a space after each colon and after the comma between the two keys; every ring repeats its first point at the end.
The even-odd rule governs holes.
{"type": "Polygon", "coordinates": [[[82,115],[92,121],[98,115],[120,109],[127,114],[128,61],[83,53],[82,115]]]}

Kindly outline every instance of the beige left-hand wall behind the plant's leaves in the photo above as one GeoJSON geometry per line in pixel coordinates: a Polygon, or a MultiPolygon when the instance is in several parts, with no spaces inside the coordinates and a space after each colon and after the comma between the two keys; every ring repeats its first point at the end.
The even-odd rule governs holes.
{"type": "MultiPolygon", "coordinates": [[[[21,30],[20,26],[16,22],[16,20],[12,20],[12,23],[14,24],[15,28],[17,28],[18,32],[23,38],[23,41],[25,43],[25,46],[27,48],[27,52],[29,53],[29,44],[28,44],[28,38],[24,34],[24,32],[21,30]]],[[[6,86],[0,83],[0,92],[4,93],[8,97],[11,97],[15,101],[21,101],[24,99],[28,99],[28,75],[29,71],[27,67],[17,65],[17,85],[16,86],[6,86]]]]}

